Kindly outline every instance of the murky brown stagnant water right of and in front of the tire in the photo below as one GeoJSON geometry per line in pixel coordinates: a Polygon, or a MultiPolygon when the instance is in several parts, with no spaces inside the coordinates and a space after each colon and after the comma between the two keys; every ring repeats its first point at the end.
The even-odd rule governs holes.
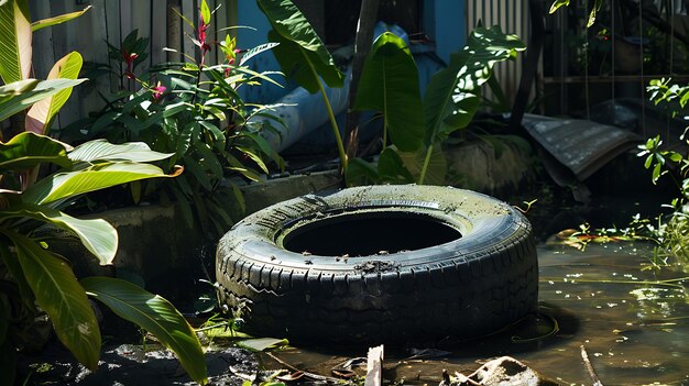
{"type": "MultiPolygon", "coordinates": [[[[437,385],[441,372],[470,374],[478,362],[511,355],[566,385],[591,385],[580,346],[604,385],[689,385],[689,291],[680,269],[642,269],[645,243],[538,246],[540,313],[501,333],[386,353],[384,379],[437,385]],[[559,330],[554,333],[555,323],[559,330]],[[444,351],[447,351],[444,352],[444,351]],[[425,355],[436,356],[429,357],[425,355]]],[[[277,355],[302,370],[330,374],[361,352],[288,349],[277,355]]],[[[271,362],[266,363],[271,366],[271,362]]],[[[280,368],[278,364],[273,364],[280,368]]]]}

